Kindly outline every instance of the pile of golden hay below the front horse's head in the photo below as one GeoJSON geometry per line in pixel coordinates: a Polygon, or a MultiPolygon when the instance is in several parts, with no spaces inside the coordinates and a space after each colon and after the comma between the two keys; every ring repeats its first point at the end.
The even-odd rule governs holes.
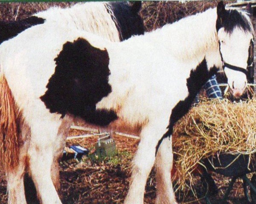
{"type": "Polygon", "coordinates": [[[193,186],[201,159],[218,153],[256,152],[256,99],[232,103],[202,102],[175,125],[173,133],[177,186],[193,186]]]}

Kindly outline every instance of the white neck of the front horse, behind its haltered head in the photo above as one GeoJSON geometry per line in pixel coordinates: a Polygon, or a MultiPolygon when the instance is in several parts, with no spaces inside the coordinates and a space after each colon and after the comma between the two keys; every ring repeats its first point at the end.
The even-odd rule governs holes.
{"type": "Polygon", "coordinates": [[[197,65],[204,57],[209,56],[210,60],[216,61],[212,63],[218,65],[220,56],[216,19],[216,8],[210,8],[203,13],[164,26],[156,31],[157,38],[162,41],[169,54],[182,63],[197,65]]]}

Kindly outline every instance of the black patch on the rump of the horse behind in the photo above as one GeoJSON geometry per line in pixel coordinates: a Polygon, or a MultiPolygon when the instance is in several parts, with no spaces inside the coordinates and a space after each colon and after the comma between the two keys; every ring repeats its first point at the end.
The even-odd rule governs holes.
{"type": "Polygon", "coordinates": [[[36,16],[17,21],[0,21],[0,44],[17,36],[22,31],[32,26],[43,24],[45,19],[36,16]]]}

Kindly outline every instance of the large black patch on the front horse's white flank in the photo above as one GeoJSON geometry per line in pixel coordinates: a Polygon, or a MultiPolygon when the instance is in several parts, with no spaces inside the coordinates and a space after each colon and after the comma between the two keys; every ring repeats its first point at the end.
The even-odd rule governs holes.
{"type": "Polygon", "coordinates": [[[63,45],[55,62],[55,73],[40,97],[51,113],[72,113],[96,125],[108,125],[117,119],[113,110],[96,110],[96,104],[111,93],[106,50],[78,38],[63,45]]]}

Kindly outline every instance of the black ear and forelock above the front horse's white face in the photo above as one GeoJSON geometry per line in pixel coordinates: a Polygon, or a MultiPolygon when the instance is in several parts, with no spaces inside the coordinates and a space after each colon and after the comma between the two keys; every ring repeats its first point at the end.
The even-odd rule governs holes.
{"type": "Polygon", "coordinates": [[[240,28],[244,31],[252,32],[248,20],[236,9],[226,10],[224,3],[221,1],[217,6],[216,30],[224,28],[228,34],[231,34],[234,28],[240,28]]]}

